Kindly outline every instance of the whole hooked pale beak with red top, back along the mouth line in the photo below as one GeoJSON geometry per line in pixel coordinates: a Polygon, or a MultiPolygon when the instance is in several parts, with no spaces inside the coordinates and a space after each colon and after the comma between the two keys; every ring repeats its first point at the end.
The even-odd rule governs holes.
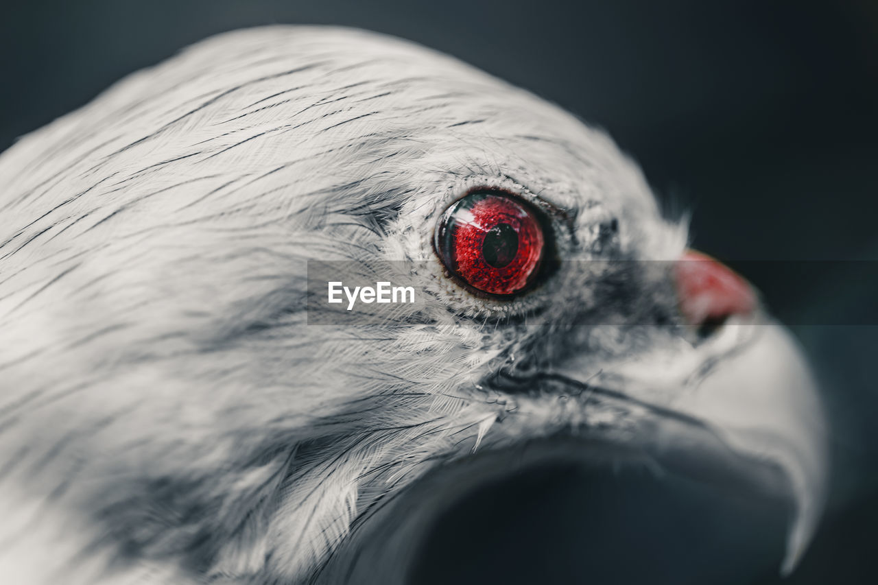
{"type": "Polygon", "coordinates": [[[557,372],[591,388],[624,388],[613,400],[630,402],[639,413],[637,430],[625,440],[669,473],[791,504],[781,566],[788,574],[815,531],[826,494],[817,385],[794,338],[760,314],[744,278],[694,251],[674,275],[687,323],[716,326],[707,340],[657,348],[596,375],[575,358],[557,372]]]}

